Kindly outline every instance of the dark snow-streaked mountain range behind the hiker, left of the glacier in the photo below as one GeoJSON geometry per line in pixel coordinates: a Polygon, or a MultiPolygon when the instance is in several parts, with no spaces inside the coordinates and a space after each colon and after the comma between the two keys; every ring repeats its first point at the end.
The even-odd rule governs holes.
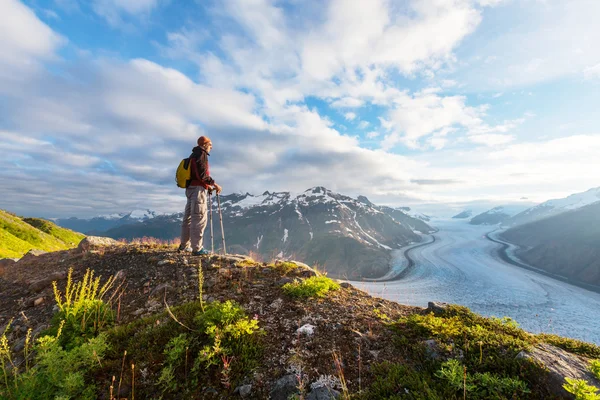
{"type": "MultiPolygon", "coordinates": [[[[419,242],[421,233],[433,231],[426,215],[411,215],[407,207],[377,206],[364,196],[352,198],[324,187],[298,196],[289,192],[235,193],[221,196],[221,206],[229,252],[252,252],[265,260],[291,257],[319,265],[330,275],[355,279],[385,274],[391,249],[419,242]]],[[[220,247],[216,198],[213,209],[214,243],[220,247]]],[[[57,223],[115,239],[148,236],[170,240],[179,238],[182,216],[148,211],[134,217],[119,214],[57,223]]],[[[210,249],[209,232],[207,228],[204,246],[210,249]]]]}

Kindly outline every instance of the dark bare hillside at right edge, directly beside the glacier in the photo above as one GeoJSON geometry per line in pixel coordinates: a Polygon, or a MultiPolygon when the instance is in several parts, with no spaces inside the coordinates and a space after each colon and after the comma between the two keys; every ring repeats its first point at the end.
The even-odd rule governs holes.
{"type": "Polygon", "coordinates": [[[526,263],[600,286],[600,202],[519,225],[500,235],[526,263]]]}

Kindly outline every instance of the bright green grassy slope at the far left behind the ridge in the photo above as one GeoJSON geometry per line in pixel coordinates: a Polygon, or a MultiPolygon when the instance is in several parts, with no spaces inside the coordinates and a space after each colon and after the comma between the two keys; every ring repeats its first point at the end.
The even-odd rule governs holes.
{"type": "Polygon", "coordinates": [[[20,218],[0,210],[0,258],[19,258],[31,249],[75,247],[84,236],[39,218],[20,218]]]}

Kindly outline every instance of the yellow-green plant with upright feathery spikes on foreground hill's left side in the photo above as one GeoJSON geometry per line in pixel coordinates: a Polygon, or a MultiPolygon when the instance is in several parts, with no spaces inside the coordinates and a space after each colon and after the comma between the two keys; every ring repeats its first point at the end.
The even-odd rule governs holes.
{"type": "Polygon", "coordinates": [[[50,333],[55,333],[59,321],[64,321],[63,335],[60,336],[60,340],[66,347],[83,344],[114,322],[114,313],[103,300],[112,287],[113,277],[100,286],[100,277],[95,278],[94,272],[89,269],[83,276],[83,280],[75,284],[72,274],[71,268],[67,276],[64,296],[58,290],[56,282],[52,282],[54,299],[59,311],[54,316],[54,329],[51,329],[50,333]]]}

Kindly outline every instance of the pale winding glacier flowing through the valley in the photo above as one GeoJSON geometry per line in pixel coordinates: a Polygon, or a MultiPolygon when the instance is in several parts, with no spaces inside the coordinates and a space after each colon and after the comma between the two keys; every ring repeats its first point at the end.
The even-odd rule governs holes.
{"type": "MultiPolygon", "coordinates": [[[[531,332],[600,344],[600,294],[510,265],[489,226],[438,220],[435,242],[410,250],[414,267],[391,282],[354,282],[372,295],[402,304],[461,304],[487,316],[509,316],[531,332]]],[[[404,252],[394,253],[404,266],[404,252]]]]}

